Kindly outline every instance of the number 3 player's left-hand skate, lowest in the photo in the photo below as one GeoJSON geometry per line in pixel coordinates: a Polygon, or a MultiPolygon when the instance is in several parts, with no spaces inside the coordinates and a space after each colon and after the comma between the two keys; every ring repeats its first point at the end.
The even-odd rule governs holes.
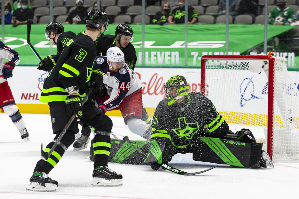
{"type": "Polygon", "coordinates": [[[58,187],[58,182],[48,177],[45,172],[34,172],[30,178],[30,184],[26,187],[28,191],[51,192],[58,187]]]}

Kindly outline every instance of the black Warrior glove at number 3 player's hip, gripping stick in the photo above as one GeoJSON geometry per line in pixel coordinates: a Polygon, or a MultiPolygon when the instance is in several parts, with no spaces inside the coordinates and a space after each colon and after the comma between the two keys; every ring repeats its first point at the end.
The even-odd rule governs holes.
{"type": "Polygon", "coordinates": [[[66,110],[69,116],[72,116],[76,112],[77,121],[80,121],[80,118],[83,117],[83,107],[81,97],[78,95],[69,95],[65,99],[66,110]]]}

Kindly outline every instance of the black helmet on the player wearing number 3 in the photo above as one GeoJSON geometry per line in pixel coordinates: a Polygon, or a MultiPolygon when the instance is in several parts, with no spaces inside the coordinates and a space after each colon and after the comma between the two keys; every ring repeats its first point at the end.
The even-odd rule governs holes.
{"type": "Polygon", "coordinates": [[[108,16],[106,12],[93,8],[87,13],[86,26],[93,28],[101,28],[104,24],[105,30],[108,30],[108,16]]]}

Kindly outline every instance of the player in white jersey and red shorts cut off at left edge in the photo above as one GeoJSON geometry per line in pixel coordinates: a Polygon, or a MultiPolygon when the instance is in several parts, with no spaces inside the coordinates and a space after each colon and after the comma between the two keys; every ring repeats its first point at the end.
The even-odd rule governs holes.
{"type": "Polygon", "coordinates": [[[12,91],[8,86],[7,79],[12,77],[12,69],[20,62],[19,53],[12,50],[0,41],[0,105],[5,113],[11,118],[13,124],[21,133],[23,141],[29,141],[24,119],[16,106],[12,91]],[[8,59],[3,65],[3,58],[8,59]]]}

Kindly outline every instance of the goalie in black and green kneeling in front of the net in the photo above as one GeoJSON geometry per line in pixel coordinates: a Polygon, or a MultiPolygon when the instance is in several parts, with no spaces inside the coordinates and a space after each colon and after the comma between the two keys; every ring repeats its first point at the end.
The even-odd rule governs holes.
{"type": "Polygon", "coordinates": [[[183,76],[173,76],[165,84],[166,99],[159,102],[152,122],[151,140],[165,139],[163,156],[151,163],[159,169],[177,153],[193,153],[193,160],[259,168],[273,167],[262,143],[256,143],[249,129],[236,133],[201,93],[189,93],[183,76]]]}

